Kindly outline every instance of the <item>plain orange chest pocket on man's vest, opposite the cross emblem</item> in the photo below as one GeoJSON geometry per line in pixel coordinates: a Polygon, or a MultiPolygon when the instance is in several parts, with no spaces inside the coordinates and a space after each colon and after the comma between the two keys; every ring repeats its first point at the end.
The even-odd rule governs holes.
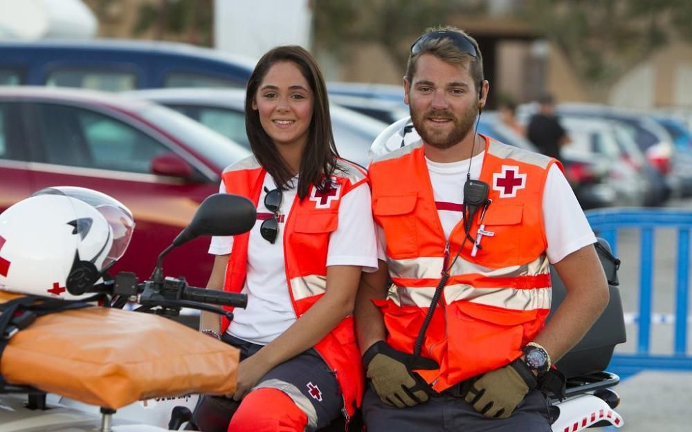
{"type": "Polygon", "coordinates": [[[417,200],[417,192],[379,196],[375,199],[372,214],[385,231],[387,255],[394,259],[418,255],[418,232],[414,213],[417,200]]]}

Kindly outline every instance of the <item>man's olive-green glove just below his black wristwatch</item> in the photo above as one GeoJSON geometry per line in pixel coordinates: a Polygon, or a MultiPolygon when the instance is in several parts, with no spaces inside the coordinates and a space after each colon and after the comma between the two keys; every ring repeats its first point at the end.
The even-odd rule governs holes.
{"type": "Polygon", "coordinates": [[[507,418],[536,384],[529,366],[516,359],[477,379],[466,393],[466,402],[484,417],[507,418]]]}

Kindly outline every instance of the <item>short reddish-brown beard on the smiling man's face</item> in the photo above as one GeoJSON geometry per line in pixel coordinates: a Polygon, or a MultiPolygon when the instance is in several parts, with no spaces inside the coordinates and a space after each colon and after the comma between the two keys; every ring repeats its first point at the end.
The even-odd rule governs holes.
{"type": "Polygon", "coordinates": [[[473,122],[475,122],[478,110],[475,106],[466,110],[461,117],[456,117],[452,111],[440,111],[440,110],[430,110],[426,113],[419,114],[413,109],[413,106],[409,107],[411,113],[411,120],[413,121],[413,126],[421,135],[423,141],[426,144],[436,147],[437,149],[449,149],[455,144],[468,135],[468,133],[473,129],[473,122]],[[444,118],[449,119],[453,122],[453,127],[448,132],[443,132],[426,127],[426,118],[444,118]]]}

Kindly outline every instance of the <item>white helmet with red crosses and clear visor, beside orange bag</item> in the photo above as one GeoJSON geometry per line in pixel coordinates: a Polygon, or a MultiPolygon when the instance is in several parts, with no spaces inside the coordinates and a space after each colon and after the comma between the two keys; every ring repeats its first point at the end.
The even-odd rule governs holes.
{"type": "Polygon", "coordinates": [[[0,289],[58,299],[89,288],[127,250],[132,214],[81,187],[50,187],[0,214],[0,289]]]}

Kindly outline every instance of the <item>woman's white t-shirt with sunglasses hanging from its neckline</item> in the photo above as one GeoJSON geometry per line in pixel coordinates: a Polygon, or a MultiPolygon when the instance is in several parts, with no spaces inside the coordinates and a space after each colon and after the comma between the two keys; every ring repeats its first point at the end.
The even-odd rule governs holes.
{"type": "MultiPolygon", "coordinates": [[[[297,198],[297,185],[298,178],[295,177],[294,187],[282,191],[279,235],[274,244],[271,244],[260,235],[260,225],[264,221],[263,216],[271,214],[264,207],[264,188],[271,191],[276,189],[276,185],[271,176],[264,176],[262,193],[257,203],[257,222],[250,231],[247,277],[242,290],[248,294],[248,306],[233,311],[233,321],[226,330],[230,335],[253,344],[268,344],[297,319],[286,281],[283,242],[285,220],[289,217],[293,200],[297,198]]],[[[226,193],[223,182],[219,191],[226,193]]],[[[209,253],[230,254],[232,247],[232,236],[212,237],[209,253]]],[[[338,227],[329,236],[327,266],[359,265],[363,270],[372,272],[377,267],[376,250],[370,188],[363,182],[341,198],[338,227]]]]}

